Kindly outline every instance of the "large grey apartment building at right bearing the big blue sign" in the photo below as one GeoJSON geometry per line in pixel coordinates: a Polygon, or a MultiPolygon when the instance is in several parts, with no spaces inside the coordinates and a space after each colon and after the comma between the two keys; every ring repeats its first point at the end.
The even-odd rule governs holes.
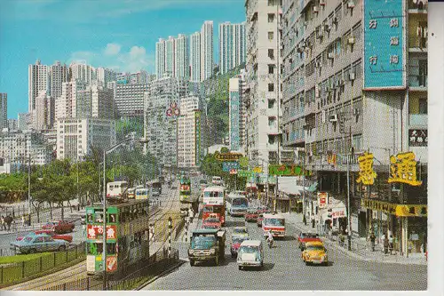
{"type": "MultiPolygon", "coordinates": [[[[350,220],[331,225],[348,224],[353,236],[392,233],[400,253],[418,252],[427,234],[426,2],[284,0],[282,23],[283,144],[305,149],[299,162],[319,191],[350,196],[350,220]],[[374,160],[370,186],[358,183],[364,152],[374,160]],[[407,153],[420,182],[389,183],[407,153]]],[[[307,198],[309,215],[319,204],[307,198]]]]}

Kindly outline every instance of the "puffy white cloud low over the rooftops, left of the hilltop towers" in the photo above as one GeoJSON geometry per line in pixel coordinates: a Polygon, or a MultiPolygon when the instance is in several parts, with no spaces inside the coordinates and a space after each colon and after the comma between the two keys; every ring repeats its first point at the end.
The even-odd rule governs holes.
{"type": "Polygon", "coordinates": [[[112,68],[122,72],[136,72],[141,69],[154,71],[154,54],[148,54],[143,46],[134,45],[128,52],[122,51],[120,44],[107,44],[107,46],[99,52],[73,52],[69,62],[76,60],[84,60],[93,67],[112,68]]]}

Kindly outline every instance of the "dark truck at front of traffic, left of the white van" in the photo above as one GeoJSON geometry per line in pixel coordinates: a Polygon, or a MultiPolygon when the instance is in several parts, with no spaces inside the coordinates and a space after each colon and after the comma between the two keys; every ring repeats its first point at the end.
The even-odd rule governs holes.
{"type": "Polygon", "coordinates": [[[193,231],[188,248],[190,265],[196,261],[214,260],[216,265],[225,256],[226,232],[219,229],[196,229],[193,231]]]}

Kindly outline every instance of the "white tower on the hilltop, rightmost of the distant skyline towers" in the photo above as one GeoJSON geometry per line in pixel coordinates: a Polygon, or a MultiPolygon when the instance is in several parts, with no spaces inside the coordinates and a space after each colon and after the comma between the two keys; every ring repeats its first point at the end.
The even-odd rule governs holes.
{"type": "Polygon", "coordinates": [[[226,74],[245,62],[245,23],[219,24],[219,73],[226,74]]]}

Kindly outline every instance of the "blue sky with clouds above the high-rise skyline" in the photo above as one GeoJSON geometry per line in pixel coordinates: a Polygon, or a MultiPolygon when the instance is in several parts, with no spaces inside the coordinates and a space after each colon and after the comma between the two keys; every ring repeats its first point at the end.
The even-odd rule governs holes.
{"type": "Polygon", "coordinates": [[[155,72],[158,38],[214,21],[245,20],[245,0],[0,0],[0,92],[8,118],[28,112],[28,65],[85,60],[93,67],[155,72]]]}

